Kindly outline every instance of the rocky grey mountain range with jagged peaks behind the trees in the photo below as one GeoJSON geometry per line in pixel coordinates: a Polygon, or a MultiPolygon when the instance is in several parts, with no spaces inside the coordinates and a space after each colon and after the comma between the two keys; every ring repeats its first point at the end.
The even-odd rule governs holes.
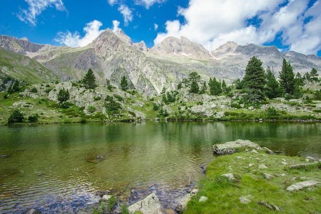
{"type": "MultiPolygon", "coordinates": [[[[312,68],[321,71],[320,57],[294,51],[283,53],[275,46],[242,46],[227,42],[209,52],[182,36],[168,37],[148,49],[144,41],[133,43],[122,29],[115,32],[106,30],[91,44],[81,48],[34,44],[27,38],[19,40],[6,35],[0,36],[0,47],[12,54],[23,54],[63,81],[81,80],[91,68],[98,84],[104,85],[108,79],[112,85],[119,86],[121,77],[125,75],[135,88],[147,95],[159,93],[163,87],[176,89],[178,82],[194,71],[205,81],[216,77],[230,83],[244,76],[252,56],[260,59],[264,68],[270,66],[276,76],[282,69],[283,59],[293,66],[295,73],[310,72],[312,68]]],[[[12,72],[11,75],[16,74],[12,72]]]]}

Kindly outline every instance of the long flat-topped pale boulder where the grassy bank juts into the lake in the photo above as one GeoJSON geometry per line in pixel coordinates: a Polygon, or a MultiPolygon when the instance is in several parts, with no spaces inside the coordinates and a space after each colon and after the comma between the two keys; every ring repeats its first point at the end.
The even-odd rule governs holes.
{"type": "Polygon", "coordinates": [[[224,155],[224,154],[235,153],[239,148],[242,148],[242,147],[251,147],[251,148],[256,148],[258,150],[261,149],[258,144],[253,143],[249,140],[236,140],[236,141],[226,142],[224,144],[215,144],[213,146],[213,150],[214,150],[214,154],[224,155]]]}

